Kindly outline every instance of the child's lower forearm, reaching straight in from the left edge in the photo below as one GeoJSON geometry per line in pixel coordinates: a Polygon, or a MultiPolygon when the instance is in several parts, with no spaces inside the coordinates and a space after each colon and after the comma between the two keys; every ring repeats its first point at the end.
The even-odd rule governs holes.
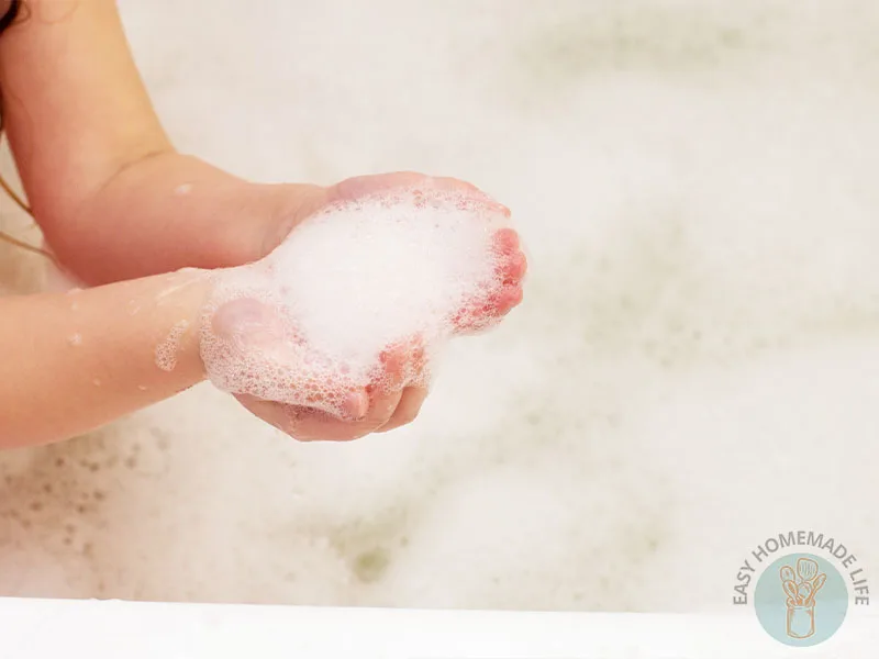
{"type": "Polygon", "coordinates": [[[203,379],[202,271],[0,299],[0,448],[93,429],[203,379]]]}

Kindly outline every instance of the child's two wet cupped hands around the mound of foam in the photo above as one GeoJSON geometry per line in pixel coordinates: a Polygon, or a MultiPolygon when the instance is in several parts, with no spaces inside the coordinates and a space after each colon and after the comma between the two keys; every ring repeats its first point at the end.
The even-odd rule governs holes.
{"type": "MultiPolygon", "coordinates": [[[[358,177],[315,188],[304,203],[301,199],[291,203],[296,212],[279,216],[276,237],[267,244],[266,253],[308,217],[333,204],[377,193],[392,196],[396,189],[414,189],[425,200],[432,194],[450,193],[488,213],[510,214],[487,194],[457,179],[410,172],[358,177]]],[[[448,326],[453,334],[491,327],[522,300],[526,263],[516,232],[496,230],[491,245],[494,283],[452,310],[448,326]]],[[[387,345],[364,382],[352,379],[344,362],[336,364],[333,356],[309,345],[298,331],[294,312],[254,297],[240,297],[212,310],[207,330],[212,338],[205,366],[214,384],[296,439],[338,442],[387,432],[412,422],[427,395],[430,360],[423,336],[399,336],[387,345]]]]}

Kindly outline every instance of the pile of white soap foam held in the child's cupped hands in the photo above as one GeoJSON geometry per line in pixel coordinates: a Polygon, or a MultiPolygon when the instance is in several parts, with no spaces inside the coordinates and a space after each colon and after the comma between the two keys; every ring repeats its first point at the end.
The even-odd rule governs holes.
{"type": "MultiPolygon", "coordinates": [[[[456,313],[500,289],[492,235],[505,221],[449,193],[393,191],[327,206],[262,261],[218,279],[208,319],[225,302],[257,299],[279,319],[279,336],[245,348],[205,322],[210,379],[232,393],[338,414],[348,391],[381,387],[383,350],[425,349],[435,359],[456,313]]],[[[407,372],[403,383],[422,377],[407,372]]]]}

